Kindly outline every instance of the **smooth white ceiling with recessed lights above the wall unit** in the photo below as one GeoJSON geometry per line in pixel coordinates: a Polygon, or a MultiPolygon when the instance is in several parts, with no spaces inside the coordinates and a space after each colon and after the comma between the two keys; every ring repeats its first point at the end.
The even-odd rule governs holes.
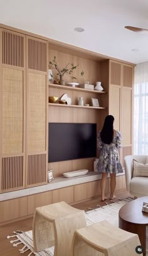
{"type": "Polygon", "coordinates": [[[0,0],[0,23],[135,64],[148,61],[148,33],[124,28],[148,29],[148,0],[0,0]]]}

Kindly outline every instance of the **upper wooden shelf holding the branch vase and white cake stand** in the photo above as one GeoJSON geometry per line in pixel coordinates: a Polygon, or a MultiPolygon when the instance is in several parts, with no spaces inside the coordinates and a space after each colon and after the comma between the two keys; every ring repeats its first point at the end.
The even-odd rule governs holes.
{"type": "Polygon", "coordinates": [[[83,89],[83,88],[80,88],[80,87],[61,86],[60,84],[48,84],[48,86],[49,87],[60,88],[60,89],[71,90],[71,91],[92,92],[92,93],[95,93],[95,94],[105,94],[106,93],[104,91],[95,91],[95,90],[90,90],[90,89],[83,89]]]}

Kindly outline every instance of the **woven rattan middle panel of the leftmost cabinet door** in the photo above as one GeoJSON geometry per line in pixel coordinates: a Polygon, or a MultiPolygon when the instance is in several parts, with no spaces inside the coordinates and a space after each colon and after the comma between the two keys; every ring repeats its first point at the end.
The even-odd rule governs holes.
{"type": "Polygon", "coordinates": [[[23,70],[3,69],[3,154],[23,152],[23,70]]]}

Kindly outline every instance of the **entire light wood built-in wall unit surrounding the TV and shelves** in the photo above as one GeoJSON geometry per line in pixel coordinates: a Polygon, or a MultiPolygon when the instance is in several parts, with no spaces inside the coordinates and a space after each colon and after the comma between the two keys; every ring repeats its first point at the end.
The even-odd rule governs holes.
{"type": "MultiPolygon", "coordinates": [[[[48,163],[48,122],[97,123],[100,130],[105,116],[112,114],[115,129],[123,137],[123,164],[125,155],[132,153],[133,81],[134,64],[1,25],[0,192],[47,184],[48,169],[54,170],[55,179],[63,172],[93,170],[93,158],[48,163]],[[68,63],[78,65],[74,76],[80,84],[89,81],[95,85],[101,81],[103,92],[50,84],[48,64],[54,56],[61,69],[68,63]],[[48,103],[48,96],[61,97],[65,93],[71,97],[71,105],[48,103]],[[84,104],[90,106],[78,106],[81,96],[84,104]],[[91,105],[91,97],[98,99],[99,108],[91,105]]],[[[65,74],[65,82],[71,82],[70,75],[65,74]]],[[[107,182],[109,192],[109,179],[107,182]]],[[[124,176],[117,177],[116,189],[124,188],[124,176]]],[[[0,222],[29,216],[34,208],[44,204],[72,204],[99,195],[100,181],[93,181],[3,201],[0,222]],[[4,212],[13,203],[16,211],[11,218],[4,212]]]]}

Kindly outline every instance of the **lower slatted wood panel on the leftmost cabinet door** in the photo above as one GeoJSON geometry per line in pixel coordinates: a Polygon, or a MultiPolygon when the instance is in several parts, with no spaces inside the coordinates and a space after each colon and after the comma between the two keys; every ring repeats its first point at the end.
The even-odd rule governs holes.
{"type": "Polygon", "coordinates": [[[2,159],[2,191],[23,187],[23,156],[2,159]]]}

